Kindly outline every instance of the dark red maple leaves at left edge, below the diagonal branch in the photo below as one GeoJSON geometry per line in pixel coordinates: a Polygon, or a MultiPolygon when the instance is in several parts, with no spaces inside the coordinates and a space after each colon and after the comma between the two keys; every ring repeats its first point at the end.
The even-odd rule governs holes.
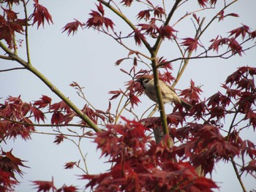
{"type": "MultiPolygon", "coordinates": [[[[109,112],[102,112],[101,110],[93,110],[87,104],[81,110],[94,121],[99,123],[99,120],[105,121],[109,117],[109,112]]],[[[10,96],[0,104],[0,139],[31,139],[31,133],[35,130],[37,123],[45,122],[45,114],[50,117],[50,123],[56,126],[68,126],[70,121],[78,117],[64,101],[52,104],[52,99],[48,96],[42,96],[34,103],[23,102],[18,97],[10,96]]],[[[85,127],[87,123],[80,121],[80,126],[85,127]]],[[[65,139],[64,136],[59,135],[56,138],[56,144],[65,139]]]]}

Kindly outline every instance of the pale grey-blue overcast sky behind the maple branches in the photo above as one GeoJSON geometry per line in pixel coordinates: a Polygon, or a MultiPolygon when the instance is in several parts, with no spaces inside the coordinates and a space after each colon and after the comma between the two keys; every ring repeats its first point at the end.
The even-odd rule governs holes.
{"type": "MultiPolygon", "coordinates": [[[[69,99],[80,108],[85,104],[83,99],[80,99],[75,90],[69,86],[72,81],[75,81],[85,87],[86,98],[94,107],[105,111],[108,108],[108,99],[110,99],[108,91],[119,88],[124,90],[125,82],[129,80],[129,77],[120,72],[120,67],[115,66],[118,59],[127,57],[127,50],[110,37],[92,29],[80,30],[74,37],[67,37],[66,33],[61,33],[61,28],[71,22],[73,18],[86,22],[90,10],[95,8],[94,2],[86,0],[76,0],[72,3],[67,0],[40,1],[45,7],[48,7],[54,24],[50,26],[45,24],[44,29],[40,27],[37,30],[36,26],[29,29],[29,42],[32,64],[66,96],[69,96],[69,99]]],[[[196,1],[193,2],[197,4],[196,1]]],[[[255,7],[256,1],[239,1],[227,12],[236,12],[240,18],[230,18],[230,22],[225,23],[214,23],[211,31],[208,31],[202,38],[214,38],[219,33],[225,37],[228,31],[239,27],[241,23],[252,26],[252,30],[255,30],[255,7]]],[[[183,7],[183,14],[193,8],[193,6],[183,7]]],[[[209,12],[215,14],[217,10],[213,9],[209,12]]],[[[22,9],[17,9],[17,12],[22,12],[22,9]]],[[[136,10],[129,9],[127,11],[128,17],[137,15],[137,13],[138,7],[136,10]]],[[[206,13],[202,12],[198,15],[203,18],[208,16],[206,13]]],[[[177,15],[172,23],[175,23],[181,15],[177,15]]],[[[116,18],[113,21],[116,23],[116,28],[127,28],[120,19],[116,18]]],[[[187,19],[187,22],[179,23],[176,30],[181,33],[181,37],[192,37],[193,23],[187,19]]],[[[143,47],[139,48],[143,50],[143,47]]],[[[18,51],[23,58],[26,58],[24,47],[18,51]]],[[[2,54],[1,51],[0,53],[2,54]]],[[[170,44],[164,44],[160,53],[169,59],[176,57],[170,44]]],[[[221,83],[225,82],[227,75],[235,72],[238,66],[256,66],[255,61],[255,49],[247,51],[242,58],[236,56],[228,60],[216,58],[190,61],[176,88],[188,88],[189,81],[193,80],[196,85],[203,85],[202,99],[208,98],[217,91],[223,91],[220,88],[221,83]]],[[[131,64],[132,62],[127,61],[121,67],[129,69],[131,64]]],[[[0,61],[0,69],[9,69],[13,66],[18,66],[18,64],[0,61]]],[[[178,72],[178,66],[178,63],[173,64],[174,74],[178,72]]],[[[25,70],[1,73],[0,93],[0,97],[3,99],[6,99],[7,96],[21,95],[23,101],[29,102],[39,99],[43,94],[53,98],[53,101],[60,101],[37,77],[25,70]]],[[[146,96],[141,96],[140,100],[142,103],[139,104],[136,112],[142,114],[143,110],[151,106],[153,102],[146,96]]],[[[113,109],[115,106],[113,103],[113,109]]],[[[170,107],[171,110],[170,105],[167,107],[170,107]]],[[[133,118],[129,114],[126,115],[133,118]]],[[[38,128],[37,130],[48,132],[48,129],[50,128],[38,128]]],[[[246,138],[256,142],[255,134],[252,133],[249,131],[246,138]]],[[[1,145],[4,151],[13,148],[12,153],[18,158],[26,160],[24,164],[31,167],[31,169],[22,169],[26,174],[23,175],[23,179],[19,178],[21,183],[16,188],[17,191],[35,191],[31,186],[31,180],[51,180],[51,177],[54,177],[57,187],[61,187],[63,184],[79,185],[80,187],[84,185],[84,181],[77,180],[76,176],[83,172],[78,169],[64,169],[65,163],[80,159],[78,149],[69,141],[65,141],[61,145],[55,145],[53,141],[53,136],[32,134],[32,139],[26,142],[16,139],[15,142],[10,140],[7,141],[7,145],[1,145]]],[[[108,169],[108,164],[103,163],[105,159],[99,159],[100,151],[96,150],[96,145],[90,139],[83,140],[82,150],[84,154],[87,153],[87,166],[91,174],[105,172],[108,169]]],[[[220,191],[241,191],[231,164],[218,164],[213,173],[213,180],[221,186],[220,191]]],[[[244,183],[248,190],[256,188],[255,180],[252,180],[251,177],[246,177],[244,183]]]]}

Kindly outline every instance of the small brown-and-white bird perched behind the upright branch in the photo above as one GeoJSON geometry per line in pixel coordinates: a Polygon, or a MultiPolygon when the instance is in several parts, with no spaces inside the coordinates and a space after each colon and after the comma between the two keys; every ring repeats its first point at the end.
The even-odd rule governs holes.
{"type": "MultiPolygon", "coordinates": [[[[146,96],[148,96],[149,99],[157,103],[157,92],[154,88],[153,77],[151,75],[143,75],[136,81],[140,82],[140,85],[142,85],[146,96]]],[[[173,102],[175,104],[181,104],[183,107],[185,107],[186,110],[191,109],[192,105],[187,103],[186,101],[182,101],[178,97],[174,89],[170,87],[170,85],[167,85],[165,84],[165,82],[162,82],[162,80],[159,80],[159,86],[162,93],[162,101],[164,103],[173,102]]]]}

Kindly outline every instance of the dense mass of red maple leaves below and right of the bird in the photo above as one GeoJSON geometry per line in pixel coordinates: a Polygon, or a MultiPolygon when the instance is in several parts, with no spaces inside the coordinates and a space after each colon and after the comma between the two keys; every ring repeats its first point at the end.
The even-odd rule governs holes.
{"type": "Polygon", "coordinates": [[[162,127],[160,118],[140,120],[143,125],[124,119],[124,126],[107,126],[95,142],[113,166],[109,172],[83,175],[89,180],[86,187],[95,191],[211,191],[216,183],[200,177],[195,169],[200,166],[203,175],[211,174],[218,161],[233,158],[243,159],[241,173],[255,175],[255,144],[243,140],[236,128],[244,121],[255,130],[255,74],[256,68],[239,68],[222,85],[227,93],[215,93],[205,101],[200,99],[202,90],[191,81],[181,96],[192,103],[192,110],[187,113],[176,105],[167,115],[170,137],[180,143],[171,149],[165,145],[166,138],[157,145],[146,134],[162,127]],[[222,120],[233,113],[244,114],[244,118],[227,128],[227,135],[222,134],[222,120]],[[186,123],[188,117],[195,122],[186,123]],[[244,161],[246,155],[248,162],[244,161]]]}

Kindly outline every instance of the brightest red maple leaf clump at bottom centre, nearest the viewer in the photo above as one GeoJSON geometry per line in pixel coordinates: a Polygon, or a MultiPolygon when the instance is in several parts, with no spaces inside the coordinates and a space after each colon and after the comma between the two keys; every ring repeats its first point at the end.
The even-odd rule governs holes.
{"type": "MultiPolygon", "coordinates": [[[[125,120],[125,119],[124,119],[125,120]]],[[[95,142],[113,163],[109,172],[85,174],[86,188],[95,191],[211,191],[217,185],[200,177],[189,162],[173,161],[167,145],[146,136],[141,123],[125,120],[124,126],[107,126],[95,142]]]]}

